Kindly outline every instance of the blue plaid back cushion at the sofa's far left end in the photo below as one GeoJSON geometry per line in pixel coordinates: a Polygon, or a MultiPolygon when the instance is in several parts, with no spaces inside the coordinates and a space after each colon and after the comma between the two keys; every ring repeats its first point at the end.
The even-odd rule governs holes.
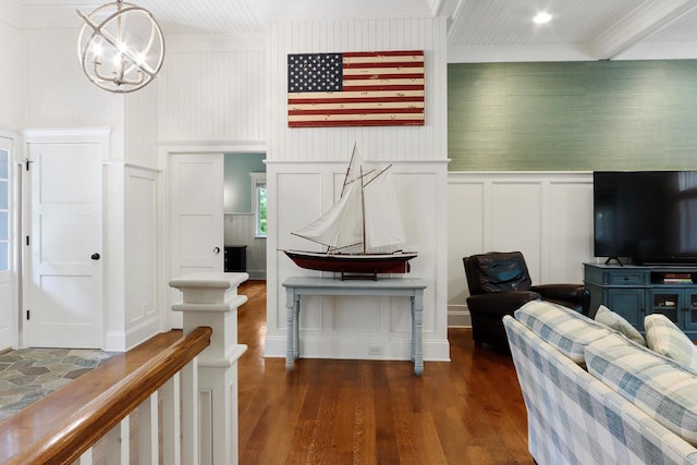
{"type": "Polygon", "coordinates": [[[546,301],[528,302],[514,316],[577,364],[585,360],[584,346],[612,332],[577,311],[546,301]]]}

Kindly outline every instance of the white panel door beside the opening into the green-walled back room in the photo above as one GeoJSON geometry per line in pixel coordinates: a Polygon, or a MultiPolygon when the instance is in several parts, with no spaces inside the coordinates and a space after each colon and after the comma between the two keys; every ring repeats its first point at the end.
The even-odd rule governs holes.
{"type": "MultiPolygon", "coordinates": [[[[224,247],[222,154],[176,154],[170,159],[171,277],[222,272],[224,247]]],[[[169,306],[181,299],[171,290],[169,306]]],[[[182,315],[172,313],[172,328],[182,315]]]]}

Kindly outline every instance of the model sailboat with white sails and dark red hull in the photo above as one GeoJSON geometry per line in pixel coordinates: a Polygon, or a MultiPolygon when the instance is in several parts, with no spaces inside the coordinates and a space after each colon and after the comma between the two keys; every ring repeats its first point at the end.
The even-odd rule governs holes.
{"type": "Polygon", "coordinates": [[[406,236],[392,180],[392,166],[364,162],[354,145],[341,197],[325,215],[293,234],[327,246],[326,252],[283,250],[298,267],[340,272],[342,279],[406,273],[416,252],[406,236]]]}

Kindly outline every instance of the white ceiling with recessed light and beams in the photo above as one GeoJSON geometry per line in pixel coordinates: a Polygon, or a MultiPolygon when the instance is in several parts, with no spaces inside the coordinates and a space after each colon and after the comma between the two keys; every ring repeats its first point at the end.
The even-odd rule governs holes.
{"type": "MultiPolygon", "coordinates": [[[[77,27],[105,1],[2,0],[19,27],[77,27]]],[[[166,36],[262,36],[272,20],[447,16],[449,61],[697,58],[697,0],[133,0],[166,36]],[[553,20],[535,25],[547,10],[553,20]]]]}

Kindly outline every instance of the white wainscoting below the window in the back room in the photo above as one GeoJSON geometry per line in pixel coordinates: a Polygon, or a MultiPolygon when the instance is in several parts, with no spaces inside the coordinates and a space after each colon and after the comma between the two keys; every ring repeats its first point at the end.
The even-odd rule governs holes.
{"type": "Polygon", "coordinates": [[[246,245],[249,278],[266,279],[266,238],[255,233],[254,213],[225,213],[225,245],[246,245]]]}

